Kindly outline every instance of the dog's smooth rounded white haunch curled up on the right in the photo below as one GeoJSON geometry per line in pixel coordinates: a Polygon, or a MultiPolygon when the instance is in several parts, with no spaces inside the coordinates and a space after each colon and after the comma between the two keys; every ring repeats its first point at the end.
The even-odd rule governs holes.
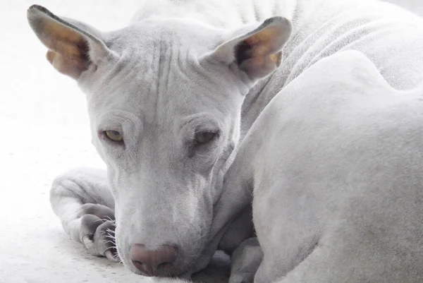
{"type": "Polygon", "coordinates": [[[252,201],[263,254],[235,253],[262,258],[255,283],[423,282],[422,124],[422,87],[393,89],[360,52],[322,59],[253,124],[212,231],[252,201]]]}

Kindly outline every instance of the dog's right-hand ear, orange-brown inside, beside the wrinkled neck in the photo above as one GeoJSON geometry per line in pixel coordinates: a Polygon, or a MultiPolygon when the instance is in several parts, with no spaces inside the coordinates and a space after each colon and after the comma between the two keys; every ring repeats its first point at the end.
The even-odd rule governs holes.
{"type": "Polygon", "coordinates": [[[281,65],[282,49],[291,31],[288,19],[268,18],[259,28],[221,44],[212,56],[225,64],[236,64],[252,80],[264,78],[281,65]]]}

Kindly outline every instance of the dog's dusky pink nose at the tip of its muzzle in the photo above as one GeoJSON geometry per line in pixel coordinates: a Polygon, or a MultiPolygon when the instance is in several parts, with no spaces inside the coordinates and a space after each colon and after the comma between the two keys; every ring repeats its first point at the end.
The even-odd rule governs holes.
{"type": "Polygon", "coordinates": [[[130,248],[130,260],[145,276],[160,275],[162,270],[160,267],[173,263],[176,260],[176,255],[176,248],[169,245],[161,246],[155,251],[147,250],[142,243],[135,243],[130,248]]]}

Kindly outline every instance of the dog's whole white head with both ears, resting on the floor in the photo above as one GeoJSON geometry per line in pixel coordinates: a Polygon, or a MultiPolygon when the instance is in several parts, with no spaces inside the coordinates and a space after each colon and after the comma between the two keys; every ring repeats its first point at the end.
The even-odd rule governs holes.
{"type": "Polygon", "coordinates": [[[28,19],[47,59],[87,95],[123,263],[143,275],[187,272],[209,239],[243,97],[281,63],[290,23],[272,18],[226,40],[227,32],[188,20],[152,18],[101,33],[39,6],[28,19]],[[164,246],[171,260],[154,254],[164,246]],[[134,263],[145,259],[134,259],[140,247],[147,268],[134,263]]]}

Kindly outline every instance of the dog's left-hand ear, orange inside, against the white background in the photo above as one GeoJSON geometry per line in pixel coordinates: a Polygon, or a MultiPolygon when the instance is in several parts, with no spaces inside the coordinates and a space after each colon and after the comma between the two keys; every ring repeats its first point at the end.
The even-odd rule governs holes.
{"type": "Polygon", "coordinates": [[[47,60],[57,71],[78,79],[90,64],[116,56],[101,38],[100,32],[75,20],[55,16],[46,8],[31,6],[27,19],[32,30],[49,49],[47,60]]]}

